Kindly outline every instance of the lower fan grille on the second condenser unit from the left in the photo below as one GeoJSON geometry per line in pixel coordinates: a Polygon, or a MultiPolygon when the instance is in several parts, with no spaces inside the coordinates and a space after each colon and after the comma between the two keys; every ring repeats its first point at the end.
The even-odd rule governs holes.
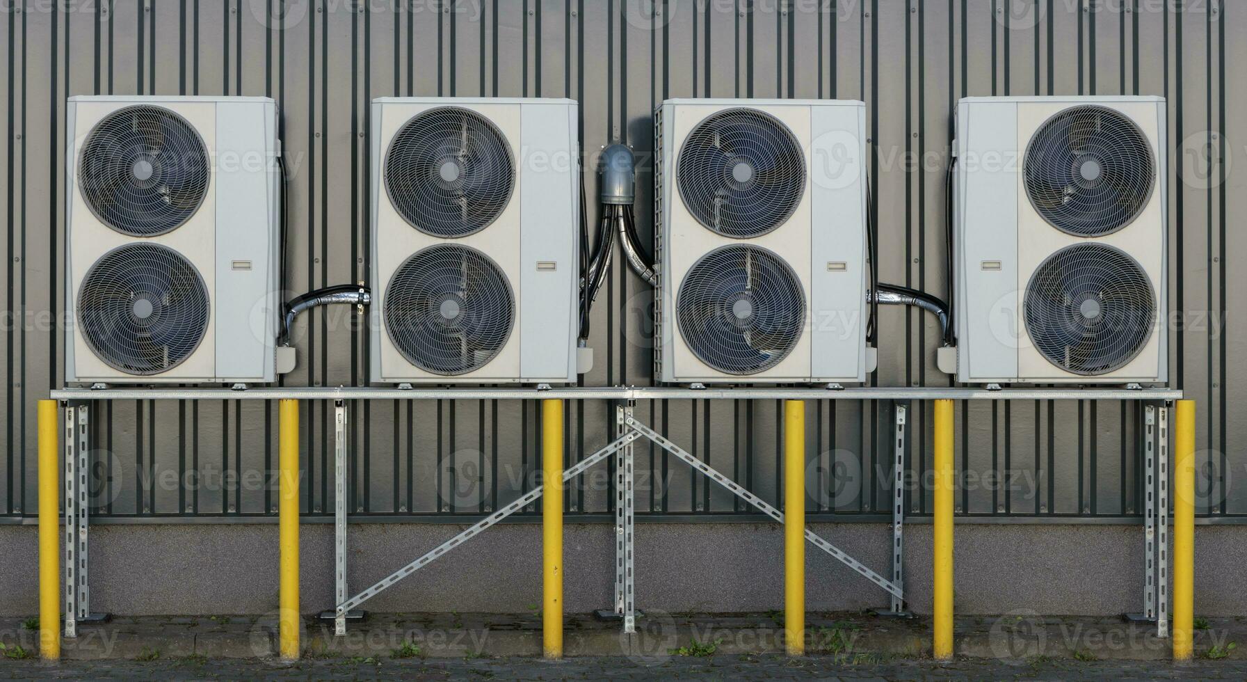
{"type": "Polygon", "coordinates": [[[494,359],[515,322],[503,271],[484,253],[438,244],[403,262],[385,289],[385,328],[399,353],[434,374],[465,374],[494,359]]]}

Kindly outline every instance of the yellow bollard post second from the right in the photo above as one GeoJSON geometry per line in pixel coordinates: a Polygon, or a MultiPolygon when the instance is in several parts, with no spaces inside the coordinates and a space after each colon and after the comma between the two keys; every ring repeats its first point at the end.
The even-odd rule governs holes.
{"type": "Polygon", "coordinates": [[[932,655],[953,657],[953,401],[935,400],[934,586],[932,655]]]}

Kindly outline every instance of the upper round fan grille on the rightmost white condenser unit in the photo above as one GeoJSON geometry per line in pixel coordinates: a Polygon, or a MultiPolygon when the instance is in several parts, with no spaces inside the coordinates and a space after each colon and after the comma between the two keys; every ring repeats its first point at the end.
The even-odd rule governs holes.
{"type": "Polygon", "coordinates": [[[1049,118],[1024,163],[1026,195],[1052,227],[1100,237],[1130,224],[1147,204],[1156,175],[1139,126],[1102,106],[1077,106],[1049,118]]]}

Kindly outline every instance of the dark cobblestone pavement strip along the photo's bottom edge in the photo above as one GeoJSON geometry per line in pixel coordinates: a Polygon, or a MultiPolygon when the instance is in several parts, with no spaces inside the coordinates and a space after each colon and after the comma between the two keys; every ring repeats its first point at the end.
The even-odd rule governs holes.
{"type": "Polygon", "coordinates": [[[663,658],[652,666],[619,657],[393,660],[318,658],[298,663],[263,660],[180,658],[92,661],[47,665],[2,661],[0,678],[94,680],[1243,680],[1247,662],[1197,661],[1188,665],[1111,661],[929,660],[880,661],[811,656],[712,656],[663,658]]]}

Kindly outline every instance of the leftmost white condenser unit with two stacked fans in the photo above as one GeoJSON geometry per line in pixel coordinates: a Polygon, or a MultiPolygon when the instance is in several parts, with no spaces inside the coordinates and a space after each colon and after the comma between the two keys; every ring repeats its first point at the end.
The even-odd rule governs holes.
{"type": "Polygon", "coordinates": [[[66,130],[66,383],[272,382],[276,102],[74,96],[66,130]]]}

